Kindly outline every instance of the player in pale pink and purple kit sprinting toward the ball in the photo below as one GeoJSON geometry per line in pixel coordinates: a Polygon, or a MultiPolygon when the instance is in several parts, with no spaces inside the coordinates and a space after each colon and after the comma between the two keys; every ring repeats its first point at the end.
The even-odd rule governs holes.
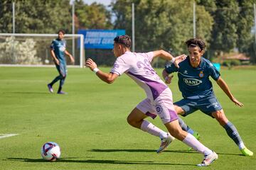
{"type": "Polygon", "coordinates": [[[162,152],[169,145],[171,137],[166,132],[144,120],[147,116],[155,118],[156,115],[159,115],[173,137],[204,155],[203,162],[198,164],[198,166],[208,166],[215,159],[218,159],[218,155],[201,144],[193,135],[181,129],[178,124],[178,116],[174,111],[171,90],[164,84],[164,81],[160,79],[150,64],[155,57],[161,57],[164,60],[174,62],[178,67],[178,62],[186,56],[178,56],[175,60],[174,57],[164,50],[147,53],[131,52],[131,44],[132,42],[128,35],[114,38],[113,52],[117,60],[114,62],[114,67],[110,73],[102,72],[91,59],[86,61],[86,66],[90,67],[92,71],[96,72],[97,77],[108,84],[111,84],[117,77],[125,73],[144,89],[147,98],[133,109],[127,121],[134,128],[139,128],[149,132],[151,135],[160,137],[162,142],[158,152],[162,152]]]}

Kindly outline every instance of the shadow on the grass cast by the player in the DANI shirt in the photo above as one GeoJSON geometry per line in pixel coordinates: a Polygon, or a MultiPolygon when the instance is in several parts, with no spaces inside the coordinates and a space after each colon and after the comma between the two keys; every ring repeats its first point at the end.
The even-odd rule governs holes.
{"type": "MultiPolygon", "coordinates": [[[[154,149],[91,149],[90,152],[156,152],[156,150],[154,149]]],[[[196,151],[188,151],[188,150],[165,150],[164,152],[198,154],[198,152],[196,151]]],[[[219,153],[219,152],[217,154],[243,156],[242,154],[229,154],[229,153],[219,153]]]]}

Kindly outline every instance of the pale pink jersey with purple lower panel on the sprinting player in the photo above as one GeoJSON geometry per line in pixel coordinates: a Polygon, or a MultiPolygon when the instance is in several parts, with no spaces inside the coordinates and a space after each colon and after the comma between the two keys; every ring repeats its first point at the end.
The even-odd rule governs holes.
{"type": "Polygon", "coordinates": [[[144,89],[146,96],[154,101],[168,87],[151,67],[153,57],[153,52],[125,52],[124,55],[117,57],[110,72],[119,76],[127,74],[144,89]]]}

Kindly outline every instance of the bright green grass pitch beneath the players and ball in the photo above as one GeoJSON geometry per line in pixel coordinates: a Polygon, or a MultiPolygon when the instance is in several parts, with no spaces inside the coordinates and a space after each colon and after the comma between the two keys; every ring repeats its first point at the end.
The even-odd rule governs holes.
{"type": "MultiPolygon", "coordinates": [[[[221,74],[245,106],[235,106],[213,82],[215,94],[245,145],[256,152],[256,67],[223,69],[221,74]]],[[[132,108],[145,98],[144,91],[126,75],[105,84],[89,69],[70,68],[63,89],[68,95],[49,94],[46,84],[56,75],[55,68],[0,67],[0,134],[19,134],[0,139],[1,170],[256,169],[256,156],[242,156],[217,121],[201,112],[184,120],[200,132],[204,145],[218,153],[216,162],[197,167],[202,155],[187,152],[188,147],[178,140],[166,152],[156,154],[160,140],[126,121],[132,108]],[[62,149],[57,162],[41,159],[40,149],[49,141],[62,149]]],[[[174,101],[181,98],[176,81],[175,75],[170,86],[174,101]]],[[[159,118],[149,120],[165,129],[159,118]]]]}

